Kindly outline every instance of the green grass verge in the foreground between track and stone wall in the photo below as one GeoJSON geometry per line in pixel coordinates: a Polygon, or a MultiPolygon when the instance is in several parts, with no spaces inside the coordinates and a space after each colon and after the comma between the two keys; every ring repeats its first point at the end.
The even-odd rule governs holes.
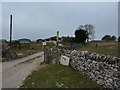
{"type": "Polygon", "coordinates": [[[47,65],[32,72],[20,88],[103,88],[73,68],[47,65]]]}

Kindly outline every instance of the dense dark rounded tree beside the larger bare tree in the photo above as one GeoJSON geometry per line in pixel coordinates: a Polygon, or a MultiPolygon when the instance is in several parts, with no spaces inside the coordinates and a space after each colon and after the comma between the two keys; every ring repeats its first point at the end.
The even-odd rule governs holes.
{"type": "Polygon", "coordinates": [[[83,29],[79,29],[75,31],[75,41],[77,43],[84,43],[86,41],[86,39],[88,38],[88,33],[87,31],[83,30],[83,29]]]}

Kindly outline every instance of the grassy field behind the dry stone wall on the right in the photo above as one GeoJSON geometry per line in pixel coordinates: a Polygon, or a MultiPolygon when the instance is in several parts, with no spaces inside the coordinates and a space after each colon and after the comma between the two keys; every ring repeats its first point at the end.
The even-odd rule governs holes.
{"type": "MultiPolygon", "coordinates": [[[[120,43],[119,43],[120,44],[120,43]]],[[[87,50],[89,52],[96,52],[100,54],[105,54],[105,55],[112,55],[116,57],[120,57],[118,55],[118,42],[116,41],[92,41],[86,43],[85,46],[82,48],[77,48],[77,50],[87,50]],[[96,47],[96,44],[98,47],[96,47]]]]}

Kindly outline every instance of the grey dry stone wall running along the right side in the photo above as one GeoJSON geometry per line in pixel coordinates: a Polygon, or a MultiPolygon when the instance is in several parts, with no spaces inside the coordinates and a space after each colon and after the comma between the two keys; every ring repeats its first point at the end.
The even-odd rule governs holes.
{"type": "Polygon", "coordinates": [[[120,89],[120,58],[110,55],[60,49],[70,66],[105,88],[120,89]]]}

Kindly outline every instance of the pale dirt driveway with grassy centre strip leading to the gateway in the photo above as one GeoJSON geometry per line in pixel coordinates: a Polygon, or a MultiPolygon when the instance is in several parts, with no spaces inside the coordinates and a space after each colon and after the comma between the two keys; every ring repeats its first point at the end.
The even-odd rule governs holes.
{"type": "Polygon", "coordinates": [[[18,88],[23,80],[44,61],[44,53],[2,64],[2,88],[18,88]]]}

